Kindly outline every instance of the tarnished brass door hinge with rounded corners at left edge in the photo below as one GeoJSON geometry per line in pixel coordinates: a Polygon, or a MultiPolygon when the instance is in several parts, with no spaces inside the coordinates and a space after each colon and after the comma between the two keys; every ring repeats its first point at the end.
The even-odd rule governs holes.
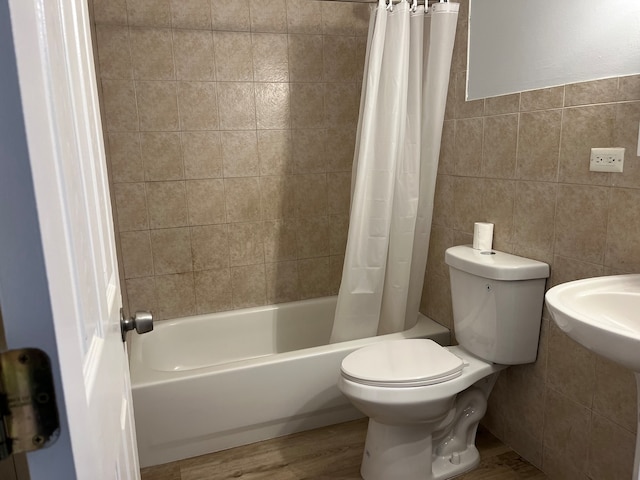
{"type": "Polygon", "coordinates": [[[48,447],[60,434],[51,362],[42,350],[0,353],[0,460],[48,447]]]}

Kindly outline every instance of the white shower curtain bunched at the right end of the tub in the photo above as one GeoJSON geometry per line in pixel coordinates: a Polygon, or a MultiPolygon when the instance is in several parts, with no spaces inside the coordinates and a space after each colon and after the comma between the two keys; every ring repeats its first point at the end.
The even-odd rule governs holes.
{"type": "Polygon", "coordinates": [[[331,342],[417,320],[458,7],[372,10],[331,342]]]}

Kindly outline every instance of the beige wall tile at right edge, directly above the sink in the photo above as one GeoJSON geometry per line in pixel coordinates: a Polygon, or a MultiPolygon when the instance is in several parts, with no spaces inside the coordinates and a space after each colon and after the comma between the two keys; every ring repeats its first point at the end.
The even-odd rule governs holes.
{"type": "Polygon", "coordinates": [[[625,272],[640,269],[640,190],[614,188],[609,200],[605,265],[625,272]]]}

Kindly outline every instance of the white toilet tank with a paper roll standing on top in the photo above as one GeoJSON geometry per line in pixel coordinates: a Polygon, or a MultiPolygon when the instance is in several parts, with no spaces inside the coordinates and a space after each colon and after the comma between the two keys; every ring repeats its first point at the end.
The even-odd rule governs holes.
{"type": "Polygon", "coordinates": [[[549,265],[469,245],[447,249],[445,262],[460,346],[494,363],[534,362],[549,265]]]}

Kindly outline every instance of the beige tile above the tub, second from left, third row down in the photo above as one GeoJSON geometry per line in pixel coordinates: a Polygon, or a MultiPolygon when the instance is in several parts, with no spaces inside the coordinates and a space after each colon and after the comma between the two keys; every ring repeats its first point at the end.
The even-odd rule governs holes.
{"type": "Polygon", "coordinates": [[[178,94],[174,82],[136,82],[142,131],[178,130],[178,94]]]}

